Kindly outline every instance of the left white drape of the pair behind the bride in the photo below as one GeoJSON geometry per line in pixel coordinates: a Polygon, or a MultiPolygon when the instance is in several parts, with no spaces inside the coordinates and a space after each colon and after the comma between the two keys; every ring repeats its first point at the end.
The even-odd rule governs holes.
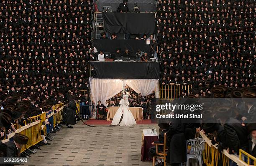
{"type": "Polygon", "coordinates": [[[111,99],[123,89],[123,80],[121,79],[97,79],[89,78],[90,91],[97,105],[100,100],[102,104],[106,105],[106,100],[111,99]]]}

